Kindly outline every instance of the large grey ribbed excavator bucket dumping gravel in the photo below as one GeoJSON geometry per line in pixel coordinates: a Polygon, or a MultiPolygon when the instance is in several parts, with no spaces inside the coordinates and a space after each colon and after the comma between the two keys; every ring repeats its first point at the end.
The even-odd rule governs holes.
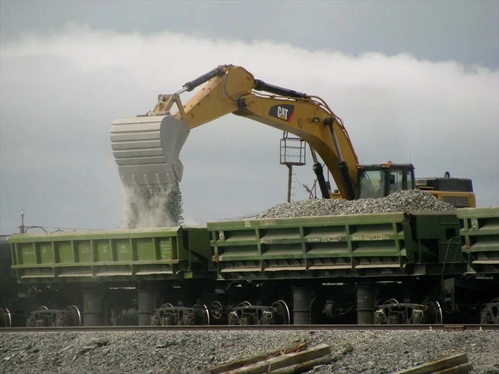
{"type": "Polygon", "coordinates": [[[125,187],[177,191],[184,167],[180,150],[189,124],[172,116],[121,118],[111,124],[111,147],[125,187]]]}

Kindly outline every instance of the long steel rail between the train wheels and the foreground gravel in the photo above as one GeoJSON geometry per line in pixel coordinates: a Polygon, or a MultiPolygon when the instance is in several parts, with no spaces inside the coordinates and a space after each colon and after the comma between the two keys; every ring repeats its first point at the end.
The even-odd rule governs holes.
{"type": "Polygon", "coordinates": [[[221,332],[221,331],[499,331],[499,325],[250,325],[250,326],[77,326],[77,327],[12,327],[0,333],[54,333],[54,332],[221,332]]]}

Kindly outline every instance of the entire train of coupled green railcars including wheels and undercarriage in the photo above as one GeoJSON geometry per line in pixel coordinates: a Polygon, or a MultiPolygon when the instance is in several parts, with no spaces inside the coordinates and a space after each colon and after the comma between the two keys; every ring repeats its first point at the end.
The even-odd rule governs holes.
{"type": "Polygon", "coordinates": [[[16,234],[9,246],[13,289],[51,287],[3,300],[0,327],[349,323],[355,311],[362,324],[499,321],[499,208],[16,234]]]}

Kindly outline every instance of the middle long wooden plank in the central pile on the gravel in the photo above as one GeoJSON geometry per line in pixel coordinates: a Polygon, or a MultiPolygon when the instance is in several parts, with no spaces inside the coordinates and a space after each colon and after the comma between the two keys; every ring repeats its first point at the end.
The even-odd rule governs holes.
{"type": "Polygon", "coordinates": [[[244,368],[239,368],[226,372],[227,374],[261,374],[269,373],[272,370],[277,370],[306,361],[321,358],[326,355],[331,354],[331,348],[327,344],[320,344],[313,348],[308,348],[306,350],[290,353],[284,356],[274,357],[268,360],[263,360],[246,366],[244,368]]]}

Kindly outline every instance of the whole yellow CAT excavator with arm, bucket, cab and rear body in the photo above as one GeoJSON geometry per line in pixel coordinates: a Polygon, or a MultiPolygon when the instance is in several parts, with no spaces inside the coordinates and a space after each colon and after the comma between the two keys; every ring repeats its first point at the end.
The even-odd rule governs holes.
{"type": "Polygon", "coordinates": [[[360,164],[343,121],[323,99],[265,83],[235,65],[220,65],[173,94],[159,95],[155,108],[144,115],[113,121],[111,145],[124,186],[151,194],[177,191],[184,169],[179,155],[189,132],[229,113],[303,139],[324,198],[376,198],[422,188],[456,207],[476,205],[469,179],[446,175],[416,180],[412,164],[360,164]],[[183,105],[180,95],[202,84],[183,105]],[[174,105],[178,111],[172,114],[174,105]],[[317,155],[337,190],[328,188],[317,155]]]}

